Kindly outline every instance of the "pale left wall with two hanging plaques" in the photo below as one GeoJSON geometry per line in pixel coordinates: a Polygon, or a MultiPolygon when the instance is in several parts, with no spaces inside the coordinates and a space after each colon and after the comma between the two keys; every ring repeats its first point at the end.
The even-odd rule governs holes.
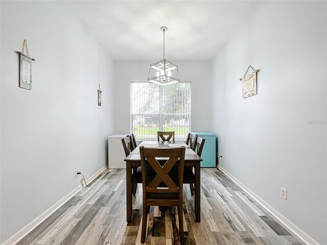
{"type": "Polygon", "coordinates": [[[63,3],[1,1],[1,243],[106,164],[112,61],[63,3]],[[19,88],[24,39],[32,90],[19,88]],[[98,106],[98,84],[102,106],[98,106]]]}

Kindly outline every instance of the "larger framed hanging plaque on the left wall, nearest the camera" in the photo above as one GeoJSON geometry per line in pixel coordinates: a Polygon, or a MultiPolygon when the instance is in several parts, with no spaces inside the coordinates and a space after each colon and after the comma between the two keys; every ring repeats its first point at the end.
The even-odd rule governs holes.
{"type": "Polygon", "coordinates": [[[35,59],[29,56],[27,41],[24,39],[21,52],[17,51],[20,56],[19,64],[19,87],[32,90],[32,61],[35,59]],[[24,53],[26,48],[26,54],[24,53]]]}

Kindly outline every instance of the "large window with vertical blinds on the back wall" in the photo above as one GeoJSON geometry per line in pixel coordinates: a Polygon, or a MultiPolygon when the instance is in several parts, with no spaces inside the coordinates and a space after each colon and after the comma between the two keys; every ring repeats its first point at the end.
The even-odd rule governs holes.
{"type": "Polygon", "coordinates": [[[186,139],[191,131],[191,82],[131,83],[131,132],[137,139],[157,139],[157,131],[175,131],[175,139],[186,139]]]}

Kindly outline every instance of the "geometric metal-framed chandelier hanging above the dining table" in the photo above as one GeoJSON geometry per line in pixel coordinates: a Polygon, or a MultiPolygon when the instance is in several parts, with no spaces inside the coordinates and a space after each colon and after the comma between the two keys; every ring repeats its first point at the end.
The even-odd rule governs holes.
{"type": "Polygon", "coordinates": [[[159,85],[168,85],[179,82],[177,65],[165,59],[165,32],[167,27],[161,27],[164,32],[164,59],[150,65],[148,81],[159,85]]]}

